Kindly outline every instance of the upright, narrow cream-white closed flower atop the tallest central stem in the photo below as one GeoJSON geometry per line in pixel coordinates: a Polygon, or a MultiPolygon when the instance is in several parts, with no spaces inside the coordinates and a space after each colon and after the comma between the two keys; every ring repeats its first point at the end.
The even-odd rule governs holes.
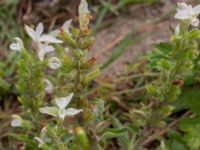
{"type": "Polygon", "coordinates": [[[88,4],[86,0],[81,0],[81,3],[78,8],[79,13],[79,24],[80,28],[82,30],[85,30],[88,28],[88,24],[90,22],[90,12],[88,10],[88,4]]]}

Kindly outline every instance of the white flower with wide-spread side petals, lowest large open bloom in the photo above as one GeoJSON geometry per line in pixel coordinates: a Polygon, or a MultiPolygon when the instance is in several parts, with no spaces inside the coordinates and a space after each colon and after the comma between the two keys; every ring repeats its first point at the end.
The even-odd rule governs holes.
{"type": "Polygon", "coordinates": [[[66,97],[61,97],[61,98],[56,98],[55,102],[57,107],[43,107],[40,108],[39,111],[41,113],[44,114],[48,114],[54,117],[58,117],[62,120],[64,120],[64,118],[66,116],[74,116],[78,113],[80,113],[81,111],[83,111],[82,109],[75,109],[75,108],[67,108],[68,104],[70,103],[70,101],[72,100],[73,97],[73,93],[71,93],[69,96],[66,97]]]}

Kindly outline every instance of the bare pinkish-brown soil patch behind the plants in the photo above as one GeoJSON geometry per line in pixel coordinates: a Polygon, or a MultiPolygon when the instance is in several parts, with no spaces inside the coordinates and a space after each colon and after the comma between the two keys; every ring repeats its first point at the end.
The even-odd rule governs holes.
{"type": "MultiPolygon", "coordinates": [[[[136,38],[141,34],[150,33],[143,40],[128,46],[125,52],[103,71],[102,77],[118,76],[126,70],[127,64],[133,62],[139,55],[144,55],[145,52],[150,51],[154,44],[161,41],[169,41],[172,34],[170,29],[177,25],[176,20],[173,18],[177,2],[178,0],[162,0],[157,4],[131,6],[128,8],[128,14],[122,13],[113,20],[109,28],[98,32],[95,36],[95,43],[91,48],[91,55],[102,52],[98,58],[98,63],[100,64],[108,60],[114,47],[133,28],[138,29],[135,35],[136,38]],[[171,15],[155,22],[170,13],[170,11],[171,15]]],[[[185,2],[194,3],[193,0],[185,0],[185,2]]]]}

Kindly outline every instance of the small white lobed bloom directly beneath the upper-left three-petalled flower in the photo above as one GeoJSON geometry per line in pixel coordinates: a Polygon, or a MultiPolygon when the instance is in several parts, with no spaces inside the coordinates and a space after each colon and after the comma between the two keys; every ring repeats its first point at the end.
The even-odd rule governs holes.
{"type": "Polygon", "coordinates": [[[46,45],[46,44],[39,44],[38,45],[38,57],[41,61],[44,60],[44,56],[46,53],[49,53],[49,52],[53,52],[55,50],[55,48],[51,45],[46,45]]]}

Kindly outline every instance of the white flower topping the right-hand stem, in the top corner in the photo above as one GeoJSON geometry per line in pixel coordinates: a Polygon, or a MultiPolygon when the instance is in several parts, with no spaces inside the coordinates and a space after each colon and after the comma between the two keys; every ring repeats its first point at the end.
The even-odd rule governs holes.
{"type": "Polygon", "coordinates": [[[178,3],[177,13],[175,14],[176,19],[189,20],[193,26],[199,25],[199,19],[197,18],[200,14],[200,4],[194,8],[186,3],[178,3]]]}

